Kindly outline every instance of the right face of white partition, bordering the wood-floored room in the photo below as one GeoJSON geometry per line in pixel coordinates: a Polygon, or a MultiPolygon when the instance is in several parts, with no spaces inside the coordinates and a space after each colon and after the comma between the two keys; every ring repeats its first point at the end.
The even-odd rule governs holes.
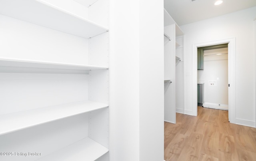
{"type": "Polygon", "coordinates": [[[140,0],[140,161],[164,160],[163,9],[140,0]]]}

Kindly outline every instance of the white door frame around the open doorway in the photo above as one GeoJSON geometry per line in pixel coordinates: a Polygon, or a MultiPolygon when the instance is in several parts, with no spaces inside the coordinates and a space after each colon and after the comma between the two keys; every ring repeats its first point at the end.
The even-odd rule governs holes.
{"type": "Polygon", "coordinates": [[[236,116],[236,38],[216,40],[192,45],[192,113],[197,116],[197,48],[228,43],[228,118],[235,123],[236,116]]]}

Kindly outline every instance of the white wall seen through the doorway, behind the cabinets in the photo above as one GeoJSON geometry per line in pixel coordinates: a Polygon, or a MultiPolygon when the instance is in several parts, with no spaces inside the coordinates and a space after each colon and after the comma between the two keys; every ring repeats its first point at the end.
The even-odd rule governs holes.
{"type": "MultiPolygon", "coordinates": [[[[228,53],[228,48],[204,50],[204,55],[228,53]]],[[[204,70],[197,71],[197,80],[204,82],[204,102],[228,105],[228,54],[205,56],[204,70]],[[209,85],[209,81],[215,81],[209,85]]]]}

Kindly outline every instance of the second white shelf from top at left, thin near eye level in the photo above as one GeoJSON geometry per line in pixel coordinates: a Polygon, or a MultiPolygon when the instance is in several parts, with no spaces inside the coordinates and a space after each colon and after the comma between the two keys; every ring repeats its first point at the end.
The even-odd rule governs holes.
{"type": "Polygon", "coordinates": [[[108,69],[102,66],[89,66],[81,64],[65,64],[58,62],[43,62],[36,60],[0,58],[0,67],[18,67],[18,68],[41,68],[41,69],[61,69],[61,70],[100,70],[108,69]]]}

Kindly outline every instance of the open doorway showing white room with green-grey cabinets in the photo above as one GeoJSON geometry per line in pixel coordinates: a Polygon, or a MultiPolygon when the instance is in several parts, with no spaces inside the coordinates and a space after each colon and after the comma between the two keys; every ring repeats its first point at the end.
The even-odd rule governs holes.
{"type": "Polygon", "coordinates": [[[228,44],[197,50],[198,106],[228,111],[228,44]]]}

